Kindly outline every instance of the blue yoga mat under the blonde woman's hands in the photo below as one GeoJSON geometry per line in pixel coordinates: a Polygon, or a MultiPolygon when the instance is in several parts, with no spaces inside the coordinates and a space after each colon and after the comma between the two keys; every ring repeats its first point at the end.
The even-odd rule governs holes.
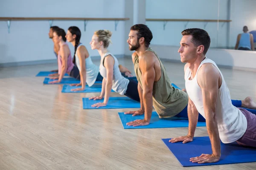
{"type": "Polygon", "coordinates": [[[110,97],[108,105],[99,108],[93,108],[91,105],[104,102],[101,100],[89,100],[89,98],[83,98],[83,109],[119,109],[119,108],[140,108],[140,102],[132,100],[128,97],[110,97]]]}

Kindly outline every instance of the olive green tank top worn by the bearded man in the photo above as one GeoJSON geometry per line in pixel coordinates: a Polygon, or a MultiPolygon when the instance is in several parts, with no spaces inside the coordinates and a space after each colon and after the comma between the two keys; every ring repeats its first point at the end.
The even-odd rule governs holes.
{"type": "MultiPolygon", "coordinates": [[[[148,48],[146,51],[152,51],[157,56],[157,54],[151,48],[148,48]]],[[[188,95],[186,92],[172,86],[166,73],[166,69],[158,56],[157,59],[160,62],[162,74],[160,79],[157,82],[154,82],[153,85],[153,106],[160,117],[173,117],[180,113],[188,105],[188,95]]],[[[143,89],[142,74],[139,68],[138,55],[136,55],[134,59],[134,71],[137,80],[143,89]]]]}

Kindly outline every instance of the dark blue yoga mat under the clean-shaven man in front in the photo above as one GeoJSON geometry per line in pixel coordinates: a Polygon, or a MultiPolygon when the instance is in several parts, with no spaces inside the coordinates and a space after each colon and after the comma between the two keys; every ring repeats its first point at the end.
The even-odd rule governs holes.
{"type": "Polygon", "coordinates": [[[169,139],[162,140],[183,167],[256,162],[256,148],[242,147],[236,142],[230,144],[223,144],[221,142],[221,159],[218,162],[205,164],[192,163],[189,161],[190,158],[200,156],[202,153],[212,153],[208,136],[194,137],[192,142],[186,144],[182,142],[171,143],[169,139]]]}

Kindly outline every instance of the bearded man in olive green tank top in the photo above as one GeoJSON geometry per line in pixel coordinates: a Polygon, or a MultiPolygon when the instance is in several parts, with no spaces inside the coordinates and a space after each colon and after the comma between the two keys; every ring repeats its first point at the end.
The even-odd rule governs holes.
{"type": "Polygon", "coordinates": [[[134,70],[138,79],[140,95],[140,110],[125,114],[144,115],[143,120],[128,122],[127,125],[148,125],[154,109],[160,118],[173,117],[186,109],[188,95],[186,92],[174,88],[157,54],[149,48],[153,36],[149,28],[143,24],[131,27],[129,49],[136,51],[132,54],[134,70]]]}

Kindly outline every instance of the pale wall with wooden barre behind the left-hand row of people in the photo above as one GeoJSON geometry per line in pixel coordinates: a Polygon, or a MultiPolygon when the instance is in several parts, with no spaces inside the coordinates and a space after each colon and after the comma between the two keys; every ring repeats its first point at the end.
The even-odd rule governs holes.
{"type": "MultiPolygon", "coordinates": [[[[125,0],[1,0],[0,17],[125,17],[125,0]]],[[[90,49],[93,32],[98,29],[113,31],[109,50],[124,54],[125,22],[119,21],[115,31],[114,21],[88,21],[84,32],[83,21],[54,21],[53,26],[67,30],[69,26],[81,29],[83,42],[91,56],[99,56],[90,49]]],[[[48,37],[48,21],[12,21],[10,34],[6,21],[0,21],[0,63],[55,59],[53,43],[48,37]]],[[[73,55],[73,46],[69,43],[73,55]]]]}

